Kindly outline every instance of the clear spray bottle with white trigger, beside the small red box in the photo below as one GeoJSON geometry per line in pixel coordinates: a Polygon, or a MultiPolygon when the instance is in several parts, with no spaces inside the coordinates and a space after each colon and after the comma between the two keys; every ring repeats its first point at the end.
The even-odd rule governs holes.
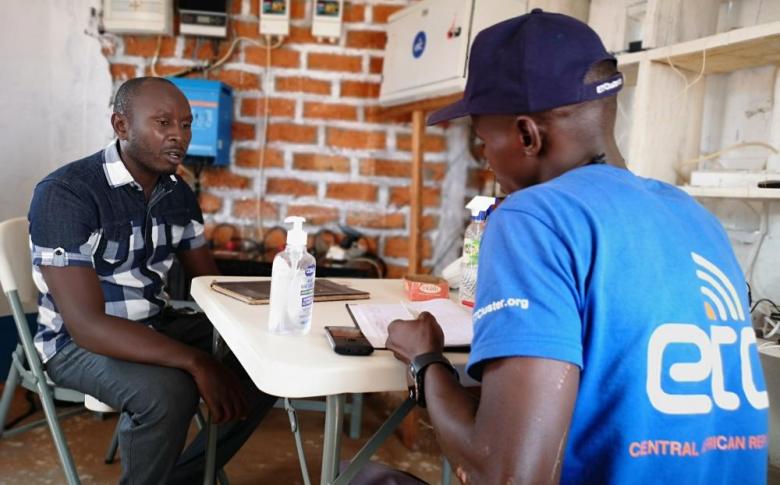
{"type": "Polygon", "coordinates": [[[471,210],[471,223],[463,235],[463,257],[460,260],[460,289],[458,299],[466,306],[474,306],[477,292],[477,264],[479,262],[479,245],[482,233],[485,232],[485,221],[490,210],[495,206],[495,197],[478,195],[466,204],[471,210]]]}

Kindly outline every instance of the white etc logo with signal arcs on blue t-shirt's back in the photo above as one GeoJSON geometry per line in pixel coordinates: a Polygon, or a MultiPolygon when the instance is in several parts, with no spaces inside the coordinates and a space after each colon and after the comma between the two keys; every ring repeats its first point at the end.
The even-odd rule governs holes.
{"type": "MultiPolygon", "coordinates": [[[[665,323],[655,329],[647,349],[647,396],[653,407],[665,414],[707,414],[713,406],[733,411],[740,407],[737,393],[726,389],[721,348],[738,345],[742,391],[748,403],[756,409],[769,407],[766,391],[756,389],[751,366],[750,346],[756,344],[751,327],[717,323],[741,323],[745,320],[742,302],[734,285],[714,264],[702,256],[691,253],[696,263],[696,276],[704,300],[704,312],[712,322],[709,333],[690,323],[665,323]],[[669,367],[669,377],[676,382],[704,382],[709,379],[710,394],[672,394],[663,388],[662,372],[664,352],[670,345],[696,347],[700,359],[697,362],[677,362],[669,367]]],[[[756,369],[756,372],[761,372],[756,369]]]]}

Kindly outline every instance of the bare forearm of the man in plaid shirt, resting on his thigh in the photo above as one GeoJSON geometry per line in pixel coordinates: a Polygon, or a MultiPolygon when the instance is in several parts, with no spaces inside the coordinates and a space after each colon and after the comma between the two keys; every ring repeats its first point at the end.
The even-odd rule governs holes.
{"type": "Polygon", "coordinates": [[[66,327],[76,344],[96,354],[175,367],[189,373],[193,372],[199,358],[208,355],[138,322],[110,315],[94,319],[88,331],[80,332],[67,323],[66,327]]]}

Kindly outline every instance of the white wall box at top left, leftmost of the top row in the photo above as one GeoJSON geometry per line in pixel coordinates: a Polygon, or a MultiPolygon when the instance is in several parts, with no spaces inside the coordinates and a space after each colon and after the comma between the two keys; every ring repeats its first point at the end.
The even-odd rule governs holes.
{"type": "Polygon", "coordinates": [[[104,0],[103,28],[124,34],[171,35],[173,0],[104,0]]]}

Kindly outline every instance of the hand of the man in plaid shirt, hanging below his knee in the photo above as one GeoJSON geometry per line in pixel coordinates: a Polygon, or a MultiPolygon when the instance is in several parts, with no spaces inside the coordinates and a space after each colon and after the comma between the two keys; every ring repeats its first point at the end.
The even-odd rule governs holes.
{"type": "Polygon", "coordinates": [[[249,405],[235,374],[206,353],[198,356],[190,373],[214,424],[246,418],[249,405]]]}

